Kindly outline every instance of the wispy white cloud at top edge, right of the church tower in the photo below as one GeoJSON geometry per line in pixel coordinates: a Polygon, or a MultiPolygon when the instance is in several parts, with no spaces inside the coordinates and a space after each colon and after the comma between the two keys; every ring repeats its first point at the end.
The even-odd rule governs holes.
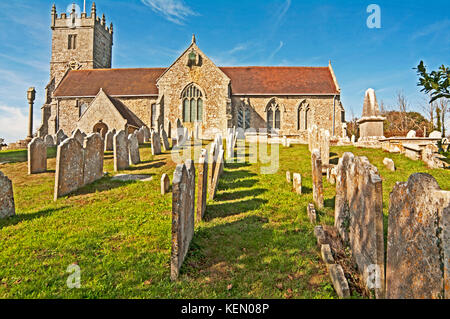
{"type": "Polygon", "coordinates": [[[141,0],[141,2],[170,22],[179,25],[184,25],[188,17],[199,15],[182,0],[141,0]]]}

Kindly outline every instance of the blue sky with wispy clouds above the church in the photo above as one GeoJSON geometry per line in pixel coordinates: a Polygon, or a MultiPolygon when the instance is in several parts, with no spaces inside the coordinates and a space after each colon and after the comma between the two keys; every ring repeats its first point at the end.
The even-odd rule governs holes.
{"type": "MultiPolygon", "coordinates": [[[[26,89],[35,86],[34,128],[49,80],[50,10],[72,1],[0,1],[0,137],[27,132],[26,89]]],[[[88,12],[92,2],[86,1],[88,12]]],[[[75,1],[81,7],[83,1],[75,1]]],[[[411,110],[424,96],[413,67],[450,62],[450,2],[305,0],[97,0],[114,23],[113,67],[169,66],[197,43],[219,66],[326,66],[332,61],[347,120],[360,116],[372,87],[392,105],[402,90],[411,110]],[[381,8],[381,29],[369,29],[368,5],[381,8]]],[[[449,116],[450,117],[450,116],[449,116]]]]}

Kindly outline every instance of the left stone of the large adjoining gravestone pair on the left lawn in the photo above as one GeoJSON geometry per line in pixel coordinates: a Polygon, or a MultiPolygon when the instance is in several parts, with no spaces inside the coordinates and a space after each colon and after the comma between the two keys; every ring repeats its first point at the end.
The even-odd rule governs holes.
{"type": "Polygon", "coordinates": [[[84,150],[75,138],[58,146],[56,155],[55,201],[83,186],[84,150]]]}

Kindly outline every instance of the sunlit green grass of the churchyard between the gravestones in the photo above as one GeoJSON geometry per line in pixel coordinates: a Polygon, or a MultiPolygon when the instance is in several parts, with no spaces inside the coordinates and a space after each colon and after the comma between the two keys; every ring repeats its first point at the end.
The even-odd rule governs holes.
{"type": "MultiPolygon", "coordinates": [[[[108,176],[53,201],[55,149],[48,172],[27,175],[26,151],[0,152],[0,171],[13,181],[16,216],[0,220],[0,298],[337,298],[309,223],[311,161],[307,145],[280,146],[280,167],[226,164],[215,201],[194,239],[176,282],[170,281],[171,193],[169,153],[152,156],[141,146],[142,163],[124,173],[149,174],[150,182],[115,182],[112,153],[108,176]],[[301,173],[303,195],[286,182],[301,173]],[[67,268],[81,268],[81,288],[69,289],[67,268]]],[[[416,172],[433,175],[450,190],[449,170],[381,150],[331,147],[331,162],[344,152],[367,156],[383,178],[384,212],[395,182],[416,172]],[[397,171],[385,169],[392,158],[397,171]]],[[[324,180],[321,223],[333,224],[335,187],[324,180]]],[[[387,218],[385,218],[385,228],[387,218]]],[[[386,229],[385,229],[386,232],[386,229]]],[[[358,298],[361,296],[355,295],[358,298]]]]}

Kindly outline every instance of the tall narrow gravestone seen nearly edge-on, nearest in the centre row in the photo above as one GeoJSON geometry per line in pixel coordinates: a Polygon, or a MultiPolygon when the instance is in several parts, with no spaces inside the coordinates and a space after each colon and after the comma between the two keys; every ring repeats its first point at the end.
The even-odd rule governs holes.
{"type": "MultiPolygon", "coordinates": [[[[193,164],[190,164],[192,171],[193,164]]],[[[195,180],[195,169],[194,176],[195,180]]],[[[170,257],[170,278],[178,278],[181,265],[194,236],[194,201],[189,186],[192,176],[185,164],[179,164],[173,173],[172,184],[172,249],[170,257]]],[[[194,190],[195,191],[195,190],[194,190]]]]}

